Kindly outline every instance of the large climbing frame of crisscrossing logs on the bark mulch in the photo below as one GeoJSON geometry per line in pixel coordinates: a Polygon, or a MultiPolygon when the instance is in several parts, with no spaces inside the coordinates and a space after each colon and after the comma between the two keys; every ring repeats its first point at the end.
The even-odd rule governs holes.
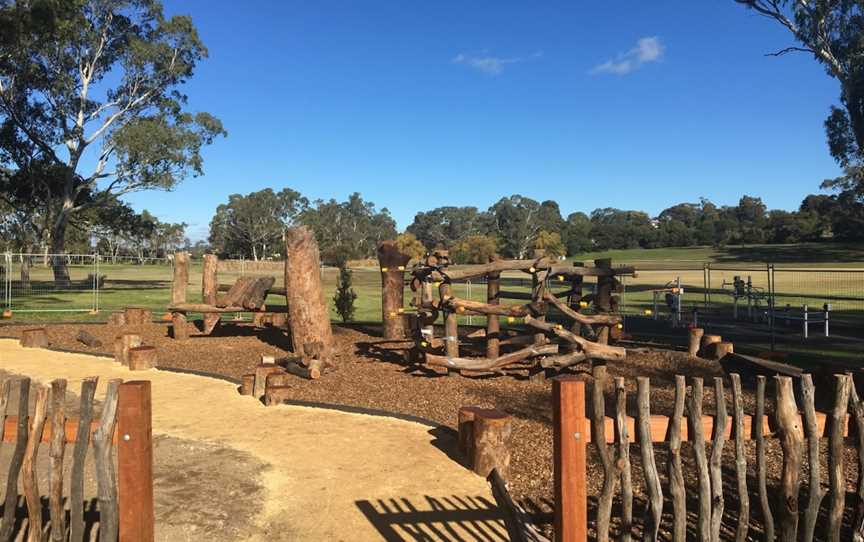
{"type": "Polygon", "coordinates": [[[616,277],[634,275],[632,267],[612,267],[609,259],[595,260],[594,266],[564,265],[540,254],[533,260],[492,259],[481,265],[450,265],[447,252],[439,250],[412,268],[415,312],[406,313],[402,308],[403,283],[391,277],[401,276],[404,263],[395,269],[385,266],[385,262],[395,260],[391,253],[379,247],[384,335],[393,339],[404,336],[407,321],[414,341],[414,359],[436,372],[456,370],[477,376],[538,367],[561,370],[585,360],[614,361],[626,356],[626,350],[609,345],[609,339],[615,338],[622,324],[620,315],[615,314],[617,297],[613,294],[621,291],[616,277]],[[529,275],[531,291],[502,290],[504,272],[529,275]],[[591,293],[583,291],[586,277],[596,278],[591,293]],[[472,279],[485,281],[486,302],[454,295],[455,283],[472,279]],[[567,289],[555,291],[553,282],[567,289]],[[502,299],[525,303],[503,304],[502,299]],[[584,309],[590,309],[590,313],[584,309]],[[444,320],[443,337],[435,336],[439,314],[444,320]],[[462,315],[485,316],[485,329],[460,335],[462,315]],[[525,327],[502,330],[500,318],[525,327]]]}

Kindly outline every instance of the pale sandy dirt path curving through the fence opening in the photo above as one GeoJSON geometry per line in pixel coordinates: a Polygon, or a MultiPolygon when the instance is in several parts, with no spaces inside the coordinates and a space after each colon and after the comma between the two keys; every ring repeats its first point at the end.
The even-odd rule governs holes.
{"type": "MultiPolygon", "coordinates": [[[[212,470],[205,464],[189,473],[177,470],[188,464],[156,449],[157,471],[171,463],[176,478],[157,476],[157,502],[175,511],[166,518],[170,528],[163,525],[169,521],[157,521],[159,540],[201,539],[196,514],[182,515],[184,501],[241,497],[252,508],[246,517],[220,522],[248,522],[246,532],[232,538],[237,540],[505,539],[485,481],[448,458],[427,426],[297,406],[266,408],[228,382],[164,371],[132,373],[106,358],[22,349],[14,340],[0,340],[0,369],[42,382],[67,378],[72,390],[82,378],[100,376],[97,397],[109,378],[150,380],[154,435],[193,441],[205,452],[208,446],[232,452],[200,453],[203,460],[212,459],[212,470]],[[220,471],[234,461],[244,474],[247,464],[260,465],[257,480],[250,480],[262,488],[260,497],[237,495],[220,483],[220,471]],[[194,491],[183,491],[186,483],[194,491]]],[[[165,450],[182,454],[183,449],[165,450]]]]}

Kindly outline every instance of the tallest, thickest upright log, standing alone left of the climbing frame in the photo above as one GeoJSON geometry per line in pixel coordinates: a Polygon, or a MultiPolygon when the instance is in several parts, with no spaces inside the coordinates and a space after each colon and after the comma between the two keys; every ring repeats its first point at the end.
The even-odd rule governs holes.
{"type": "Polygon", "coordinates": [[[285,232],[285,289],[289,326],[294,351],[303,345],[320,342],[322,358],[333,357],[333,332],[330,312],[321,287],[321,260],[318,242],[308,226],[297,226],[285,232]]]}

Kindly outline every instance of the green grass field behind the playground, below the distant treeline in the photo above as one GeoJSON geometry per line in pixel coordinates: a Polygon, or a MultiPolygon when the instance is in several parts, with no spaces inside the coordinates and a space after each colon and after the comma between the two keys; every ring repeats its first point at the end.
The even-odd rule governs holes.
{"type": "MultiPolygon", "coordinates": [[[[710,292],[712,306],[731,306],[732,297],[728,295],[735,275],[750,277],[754,288],[767,290],[768,276],[766,262],[776,263],[775,289],[778,306],[789,303],[795,307],[808,304],[821,307],[832,303],[838,316],[845,312],[864,313],[864,272],[857,273],[853,268],[864,269],[864,245],[840,244],[801,244],[801,245],[761,245],[726,247],[665,248],[617,250],[603,253],[582,254],[574,260],[590,263],[598,257],[610,257],[614,264],[632,264],[638,270],[635,278],[624,279],[625,292],[621,295],[622,308],[628,312],[644,312],[652,307],[653,290],[663,288],[680,278],[684,287],[685,307],[701,306],[706,300],[706,286],[710,292]],[[703,265],[710,263],[710,284],[703,265]],[[810,271],[793,271],[807,268],[810,271]]],[[[277,267],[278,269],[278,267],[277,267]]],[[[112,310],[125,306],[145,306],[154,311],[162,311],[170,299],[172,269],[168,265],[132,265],[107,262],[100,263],[99,275],[106,277],[104,287],[94,300],[88,275],[95,272],[92,265],[73,265],[70,267],[73,284],[79,289],[57,291],[53,288],[51,270],[35,265],[31,270],[31,286],[21,287],[13,282],[12,310],[14,320],[103,320],[112,310]],[[98,301],[100,313],[89,314],[98,301]],[[39,312],[30,312],[39,311],[39,312]],[[46,312],[41,312],[46,311],[46,312]],[[69,311],[69,312],[56,312],[69,311]]],[[[357,292],[355,320],[380,321],[380,275],[374,267],[359,267],[353,270],[353,287],[357,292]]],[[[193,263],[189,278],[189,299],[198,300],[201,284],[200,264],[193,263]]],[[[271,274],[276,284],[282,285],[280,272],[257,273],[271,274]]],[[[332,295],[336,290],[337,270],[326,268],[322,271],[324,288],[331,305],[331,315],[338,318],[333,308],[332,295]]],[[[17,278],[18,269],[13,266],[11,277],[17,278]]],[[[240,273],[220,272],[221,283],[232,283],[240,273]]],[[[528,278],[528,275],[511,273],[507,276],[528,278]]],[[[526,287],[509,289],[528,291],[526,287]]],[[[455,293],[460,297],[481,300],[485,298],[482,284],[455,285],[455,293]]],[[[406,303],[410,292],[406,291],[406,303]]],[[[662,298],[661,298],[662,299],[662,298]]],[[[284,299],[271,296],[272,304],[283,304],[284,299]]],[[[764,305],[764,302],[763,302],[764,305]]],[[[478,320],[474,318],[474,320],[478,320]]]]}

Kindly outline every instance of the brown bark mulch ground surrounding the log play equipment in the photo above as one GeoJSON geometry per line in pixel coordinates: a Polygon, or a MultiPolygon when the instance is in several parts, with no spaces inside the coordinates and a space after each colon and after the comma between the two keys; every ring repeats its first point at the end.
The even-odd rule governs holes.
{"type": "MultiPolygon", "coordinates": [[[[24,326],[0,326],[0,335],[18,337],[24,326]]],[[[285,357],[290,355],[290,342],[285,334],[276,329],[255,329],[249,324],[228,322],[211,336],[192,335],[185,342],[169,337],[170,326],[154,323],[122,329],[107,325],[62,324],[47,326],[51,347],[87,353],[112,352],[113,338],[119,332],[136,332],[143,336],[145,344],[159,348],[159,365],[164,368],[203,371],[239,379],[249,373],[260,362],[262,355],[285,357]],[[78,331],[84,329],[100,338],[105,346],[89,348],[76,341],[78,331]]],[[[386,343],[375,334],[374,327],[335,326],[338,369],[328,372],[318,381],[297,379],[293,384],[294,399],[321,403],[381,409],[394,413],[418,416],[441,424],[445,433],[455,431],[456,413],[464,405],[476,405],[503,410],[514,417],[511,491],[540,521],[551,519],[552,508],[552,409],[551,382],[531,380],[513,376],[476,377],[441,376],[429,373],[420,367],[406,363],[402,352],[394,350],[398,345],[386,343]]],[[[631,345],[628,345],[628,347],[631,345]]],[[[714,412],[713,377],[722,376],[723,369],[717,362],[689,359],[685,352],[658,348],[634,348],[628,350],[627,358],[608,367],[607,415],[614,412],[612,377],[625,377],[628,390],[628,412],[635,413],[636,377],[651,379],[651,409],[653,414],[669,414],[674,397],[676,374],[705,379],[705,414],[714,412]]],[[[576,371],[579,369],[577,368],[576,371]]],[[[587,370],[587,368],[582,368],[587,370]]],[[[769,388],[770,390],[770,388],[769,388]]],[[[731,413],[731,395],[726,389],[727,405],[731,413]]],[[[773,402],[769,391],[766,403],[773,402]]],[[[753,412],[753,389],[745,389],[745,411],[753,412]]],[[[450,435],[445,435],[449,438],[450,435]]],[[[710,435],[707,435],[710,438],[710,435]]],[[[358,436],[362,438],[362,436],[358,436]]],[[[631,439],[633,435],[631,435],[631,439]]],[[[824,442],[824,441],[823,441],[824,442]]],[[[824,446],[824,444],[823,444],[824,446]]],[[[655,447],[657,463],[665,486],[665,447],[655,447]]],[[[727,444],[724,457],[724,478],[734,485],[733,450],[727,444]],[[728,465],[728,468],[725,467],[728,465]]],[[[857,472],[857,459],[847,459],[849,489],[853,490],[857,472]]],[[[692,452],[685,443],[683,453],[685,476],[688,479],[688,500],[695,497],[696,474],[692,467],[692,452]]],[[[710,453],[710,450],[709,450],[710,453]]],[[[759,516],[758,497],[755,495],[755,469],[753,445],[748,443],[748,471],[750,476],[751,510],[759,516]]],[[[593,453],[592,453],[593,456],[593,453]]],[[[596,458],[589,458],[589,495],[599,492],[602,470],[596,458]]],[[[823,455],[824,459],[824,455],[823,455]]],[[[641,515],[644,497],[642,473],[638,451],[631,452],[633,461],[634,493],[637,498],[635,516],[641,515]]],[[[779,476],[781,455],[779,447],[769,446],[769,485],[779,476]]],[[[827,465],[825,465],[827,468],[827,465]]],[[[805,469],[806,471],[806,469],[805,469]]],[[[826,476],[823,470],[823,477],[826,476]]],[[[806,472],[802,472],[806,480],[806,472]]],[[[667,503],[668,506],[668,503],[667,503]]],[[[737,509],[737,497],[727,497],[727,510],[737,509]]],[[[688,503],[690,510],[696,509],[694,502],[688,503]]],[[[734,515],[734,513],[733,513],[734,515]]],[[[730,518],[731,519],[731,518],[730,518]]],[[[664,519],[664,526],[666,520],[664,519]]],[[[734,533],[734,524],[728,526],[734,533]]]]}

